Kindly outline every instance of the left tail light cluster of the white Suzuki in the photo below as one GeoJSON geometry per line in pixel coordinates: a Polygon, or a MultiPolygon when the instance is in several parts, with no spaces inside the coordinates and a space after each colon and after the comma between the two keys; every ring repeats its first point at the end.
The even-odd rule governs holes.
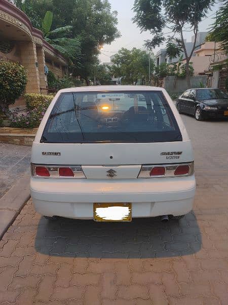
{"type": "Polygon", "coordinates": [[[77,166],[47,166],[31,163],[31,174],[36,178],[73,178],[86,179],[82,167],[77,166]]]}

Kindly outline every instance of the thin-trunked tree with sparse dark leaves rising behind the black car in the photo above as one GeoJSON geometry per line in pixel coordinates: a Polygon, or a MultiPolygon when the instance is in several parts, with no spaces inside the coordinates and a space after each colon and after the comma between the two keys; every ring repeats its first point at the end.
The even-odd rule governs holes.
{"type": "Polygon", "coordinates": [[[145,45],[149,48],[160,46],[166,39],[163,33],[165,27],[173,33],[168,38],[167,50],[172,57],[183,50],[186,58],[186,81],[191,86],[189,79],[189,62],[196,46],[199,23],[207,16],[215,0],[135,0],[133,21],[141,31],[150,31],[153,39],[147,40],[145,45]],[[183,32],[186,27],[193,31],[195,39],[191,52],[188,54],[185,46],[183,32]],[[176,43],[173,37],[178,36],[176,43]]]}

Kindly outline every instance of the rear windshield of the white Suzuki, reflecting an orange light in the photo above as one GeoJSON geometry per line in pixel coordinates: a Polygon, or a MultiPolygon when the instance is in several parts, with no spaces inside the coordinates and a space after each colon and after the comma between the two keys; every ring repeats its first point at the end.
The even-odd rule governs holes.
{"type": "Polygon", "coordinates": [[[47,121],[41,142],[182,141],[162,92],[63,93],[47,121]]]}

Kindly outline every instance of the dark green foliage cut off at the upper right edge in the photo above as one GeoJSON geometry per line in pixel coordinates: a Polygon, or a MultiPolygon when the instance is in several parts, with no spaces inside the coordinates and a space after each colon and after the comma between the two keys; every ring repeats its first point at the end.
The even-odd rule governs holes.
{"type": "Polygon", "coordinates": [[[212,29],[207,36],[207,40],[221,42],[222,48],[228,53],[228,0],[219,1],[221,7],[217,13],[217,20],[215,18],[212,24],[212,29]]]}

